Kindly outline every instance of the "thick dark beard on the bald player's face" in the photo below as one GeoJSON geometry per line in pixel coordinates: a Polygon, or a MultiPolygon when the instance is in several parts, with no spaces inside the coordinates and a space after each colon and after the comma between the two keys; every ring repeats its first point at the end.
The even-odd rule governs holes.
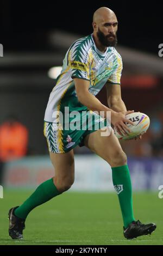
{"type": "Polygon", "coordinates": [[[104,35],[104,33],[98,28],[97,37],[98,40],[101,42],[103,46],[109,47],[115,47],[117,45],[117,35],[110,33],[110,36],[114,37],[114,40],[109,40],[108,35],[104,35]]]}

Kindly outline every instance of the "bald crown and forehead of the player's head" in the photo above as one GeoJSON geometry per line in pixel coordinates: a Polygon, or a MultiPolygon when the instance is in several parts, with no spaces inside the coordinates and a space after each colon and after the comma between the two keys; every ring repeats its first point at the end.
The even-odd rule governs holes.
{"type": "Polygon", "coordinates": [[[114,11],[110,10],[107,7],[101,7],[97,9],[93,14],[93,22],[96,22],[98,24],[99,22],[104,21],[108,17],[116,18],[114,11]]]}

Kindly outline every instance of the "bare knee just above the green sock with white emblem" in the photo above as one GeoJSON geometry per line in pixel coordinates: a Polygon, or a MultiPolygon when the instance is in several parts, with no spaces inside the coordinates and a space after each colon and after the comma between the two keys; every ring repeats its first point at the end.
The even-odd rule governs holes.
{"type": "Polygon", "coordinates": [[[125,164],[127,164],[127,155],[124,151],[119,150],[115,152],[110,162],[111,167],[124,166],[125,164]]]}

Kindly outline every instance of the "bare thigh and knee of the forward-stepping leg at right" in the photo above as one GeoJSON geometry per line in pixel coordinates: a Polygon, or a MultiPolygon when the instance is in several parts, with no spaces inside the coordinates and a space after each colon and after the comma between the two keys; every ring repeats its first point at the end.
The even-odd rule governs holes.
{"type": "Polygon", "coordinates": [[[101,156],[112,167],[126,164],[127,157],[122,150],[120,142],[114,135],[114,131],[111,127],[107,127],[107,129],[109,129],[107,136],[102,136],[102,134],[104,135],[102,130],[98,130],[87,135],[84,140],[85,146],[93,153],[101,156]]]}

